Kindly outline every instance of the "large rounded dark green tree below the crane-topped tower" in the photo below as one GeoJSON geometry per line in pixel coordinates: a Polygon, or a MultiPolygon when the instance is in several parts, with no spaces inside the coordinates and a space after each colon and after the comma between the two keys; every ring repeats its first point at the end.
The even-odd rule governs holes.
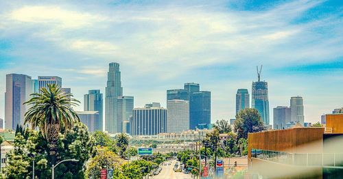
{"type": "Polygon", "coordinates": [[[256,133],[264,130],[263,122],[259,111],[256,109],[242,109],[236,115],[234,124],[235,133],[238,138],[248,138],[248,133],[256,133]]]}

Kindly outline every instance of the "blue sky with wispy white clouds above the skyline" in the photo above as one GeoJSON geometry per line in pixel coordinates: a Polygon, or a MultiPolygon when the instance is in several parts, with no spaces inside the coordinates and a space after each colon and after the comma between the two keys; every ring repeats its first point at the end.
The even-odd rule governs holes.
{"type": "Polygon", "coordinates": [[[58,75],[83,102],[115,61],[135,107],[165,107],[167,89],[196,82],[212,92],[213,122],[234,117],[237,88],[251,92],[263,64],[270,111],[299,95],[317,122],[343,107],[342,3],[0,1],[0,118],[5,74],[58,75]]]}

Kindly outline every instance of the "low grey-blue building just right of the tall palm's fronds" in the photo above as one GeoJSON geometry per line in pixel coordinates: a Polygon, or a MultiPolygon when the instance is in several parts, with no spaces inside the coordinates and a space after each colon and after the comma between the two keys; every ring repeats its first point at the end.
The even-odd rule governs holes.
{"type": "Polygon", "coordinates": [[[100,127],[99,111],[76,111],[80,121],[85,124],[89,132],[102,131],[100,127]]]}

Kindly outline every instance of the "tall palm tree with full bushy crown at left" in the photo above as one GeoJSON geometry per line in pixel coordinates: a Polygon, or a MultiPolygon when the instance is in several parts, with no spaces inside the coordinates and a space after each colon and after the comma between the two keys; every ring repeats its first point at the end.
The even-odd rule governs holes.
{"type": "Polygon", "coordinates": [[[71,98],[58,85],[48,84],[47,88],[40,89],[39,94],[33,96],[24,104],[32,106],[25,113],[24,124],[32,128],[39,128],[43,137],[49,141],[51,156],[56,155],[58,133],[67,133],[80,118],[71,108],[79,101],[71,98]]]}

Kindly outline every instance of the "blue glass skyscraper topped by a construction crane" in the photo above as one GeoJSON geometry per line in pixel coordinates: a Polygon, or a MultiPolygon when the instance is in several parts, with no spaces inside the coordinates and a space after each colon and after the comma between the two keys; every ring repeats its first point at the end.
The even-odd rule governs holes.
{"type": "Polygon", "coordinates": [[[258,81],[252,82],[251,107],[257,109],[264,124],[270,124],[269,121],[269,100],[268,100],[268,83],[260,81],[260,71],[257,68],[258,81]]]}

